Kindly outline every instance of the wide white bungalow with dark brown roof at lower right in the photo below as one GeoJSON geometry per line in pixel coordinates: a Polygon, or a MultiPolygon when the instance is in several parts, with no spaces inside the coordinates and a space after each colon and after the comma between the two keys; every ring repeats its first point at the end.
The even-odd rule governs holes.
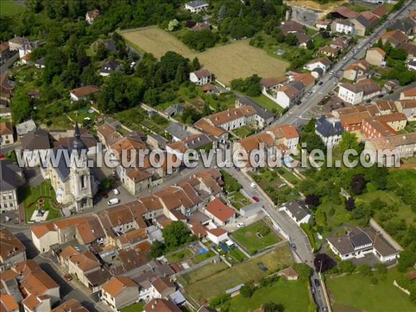
{"type": "Polygon", "coordinates": [[[329,248],[341,260],[374,254],[381,262],[393,261],[401,250],[396,250],[374,227],[351,227],[346,234],[327,238],[329,248]]]}

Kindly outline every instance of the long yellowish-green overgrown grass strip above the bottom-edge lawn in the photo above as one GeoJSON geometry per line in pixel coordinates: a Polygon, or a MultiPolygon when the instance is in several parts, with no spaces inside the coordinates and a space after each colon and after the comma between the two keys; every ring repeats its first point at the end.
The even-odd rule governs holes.
{"type": "Polygon", "coordinates": [[[198,275],[198,281],[193,283],[189,282],[188,284],[184,283],[185,290],[188,291],[194,299],[208,300],[239,284],[243,284],[247,281],[257,281],[261,277],[268,276],[283,266],[291,265],[292,257],[288,246],[285,245],[276,248],[267,254],[263,254],[261,257],[249,259],[232,268],[227,268],[226,270],[221,270],[216,274],[212,274],[213,271],[215,272],[215,269],[218,270],[219,266],[221,266],[220,263],[216,265],[209,264],[208,268],[205,268],[207,266],[203,266],[202,268],[189,272],[187,275],[181,277],[181,279],[184,278],[192,281],[195,279],[194,275],[198,275]],[[257,265],[258,262],[263,262],[268,270],[266,272],[260,270],[257,265]],[[201,274],[201,269],[204,270],[204,274],[201,274]],[[190,277],[189,275],[193,276],[190,277]]]}

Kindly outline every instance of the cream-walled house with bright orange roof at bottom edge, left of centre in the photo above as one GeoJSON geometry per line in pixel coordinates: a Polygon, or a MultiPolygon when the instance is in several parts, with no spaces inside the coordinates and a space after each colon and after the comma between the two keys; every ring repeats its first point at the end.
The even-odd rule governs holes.
{"type": "Polygon", "coordinates": [[[113,311],[119,311],[139,301],[139,285],[129,277],[112,277],[101,287],[101,300],[113,311]]]}

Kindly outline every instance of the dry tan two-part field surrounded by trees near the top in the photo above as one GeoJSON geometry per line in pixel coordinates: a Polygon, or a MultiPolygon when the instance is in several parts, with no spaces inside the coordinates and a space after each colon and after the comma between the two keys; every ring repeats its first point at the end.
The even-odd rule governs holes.
{"type": "Polygon", "coordinates": [[[167,51],[175,51],[191,60],[198,57],[202,67],[214,73],[223,83],[229,83],[234,78],[248,77],[253,73],[265,78],[283,76],[288,67],[288,62],[271,58],[265,51],[250,46],[249,40],[238,40],[196,52],[157,27],[143,28],[122,35],[141,50],[153,53],[156,58],[160,58],[167,51]]]}

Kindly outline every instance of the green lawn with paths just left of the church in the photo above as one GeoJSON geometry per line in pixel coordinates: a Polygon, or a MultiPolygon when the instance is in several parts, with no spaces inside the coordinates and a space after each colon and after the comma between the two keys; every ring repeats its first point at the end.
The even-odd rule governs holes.
{"type": "Polygon", "coordinates": [[[53,200],[55,200],[55,191],[51,186],[50,180],[45,180],[38,187],[23,187],[19,190],[19,198],[24,202],[24,216],[26,223],[31,220],[33,211],[37,210],[38,200],[44,199],[44,206],[42,210],[49,211],[46,220],[53,220],[60,218],[61,214],[58,209],[55,209],[53,200]]]}

